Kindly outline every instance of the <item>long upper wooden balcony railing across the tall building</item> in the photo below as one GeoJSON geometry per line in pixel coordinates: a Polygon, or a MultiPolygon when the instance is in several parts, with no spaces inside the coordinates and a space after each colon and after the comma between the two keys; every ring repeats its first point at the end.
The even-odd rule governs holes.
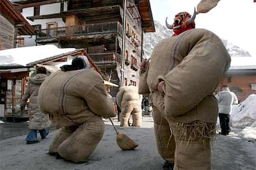
{"type": "Polygon", "coordinates": [[[38,30],[36,39],[61,38],[63,36],[86,36],[103,33],[119,33],[122,35],[122,26],[119,22],[110,22],[48,28],[38,30]]]}

